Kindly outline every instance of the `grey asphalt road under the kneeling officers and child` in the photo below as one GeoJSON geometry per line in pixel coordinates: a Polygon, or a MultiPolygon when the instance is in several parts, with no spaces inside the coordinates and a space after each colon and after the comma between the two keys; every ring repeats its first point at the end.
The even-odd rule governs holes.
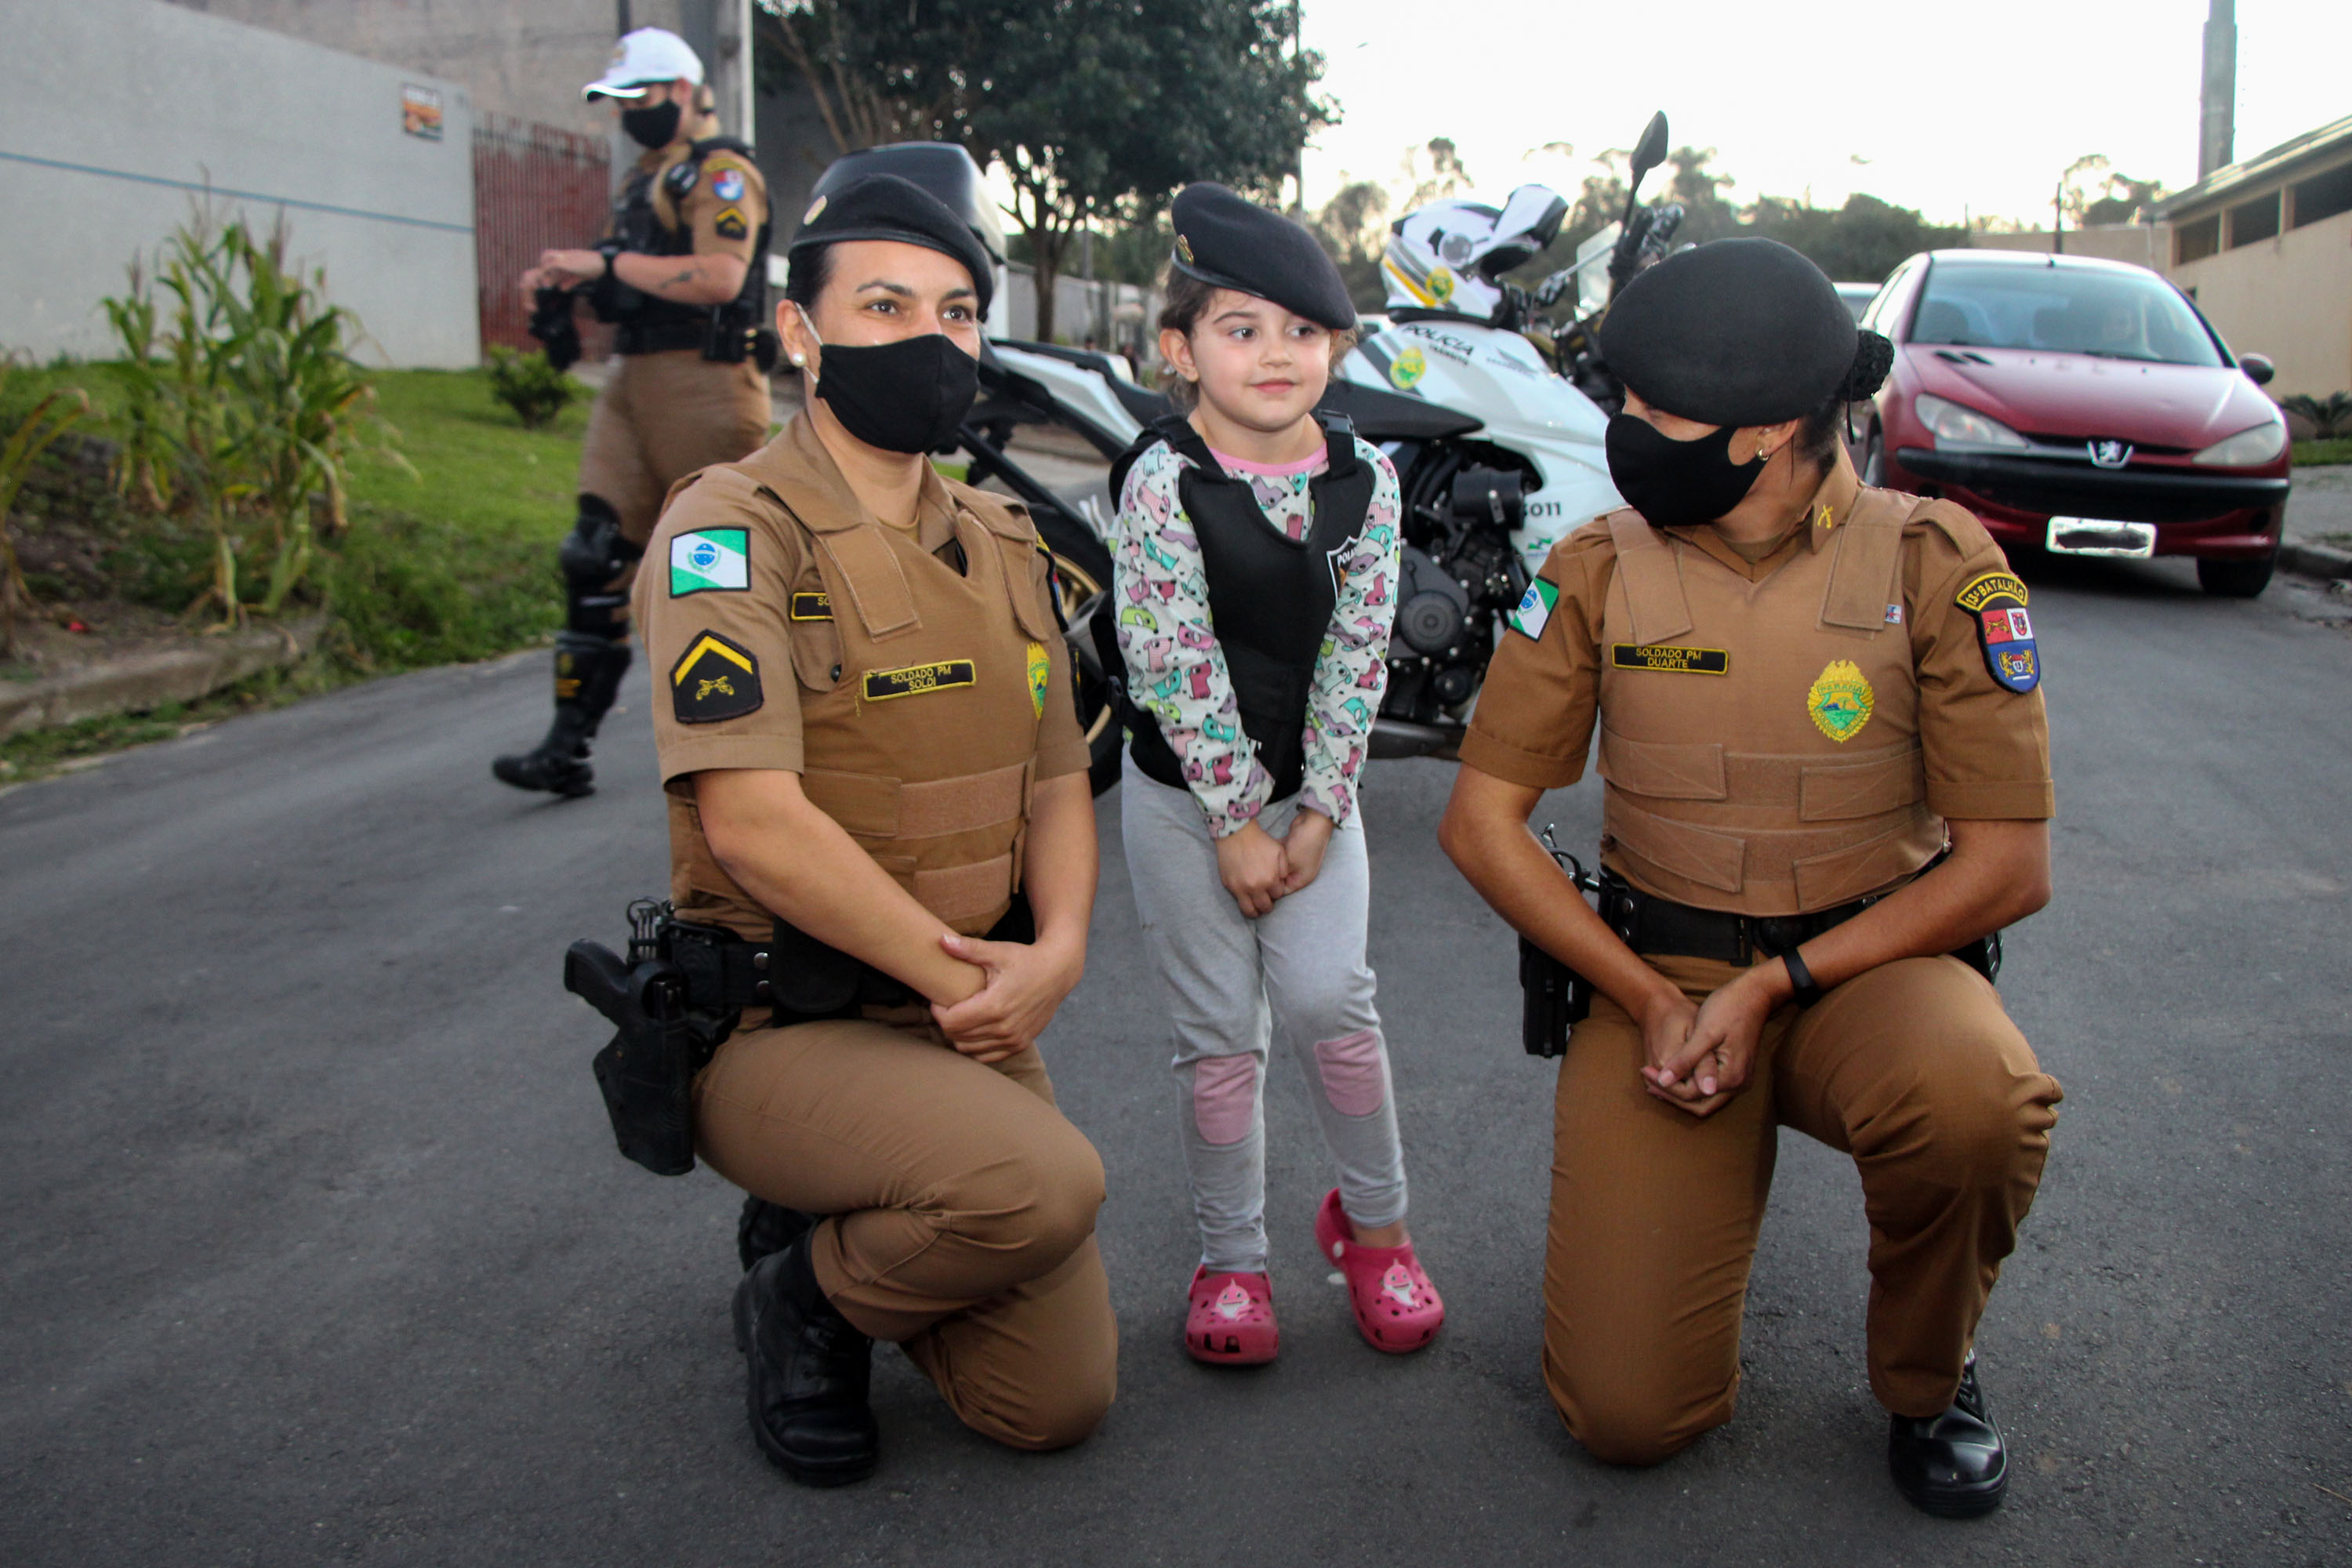
{"type": "MultiPolygon", "coordinates": [[[[1536,1375],[1550,1072],[1508,933],[1374,764],[1371,952],[1451,1321],[1395,1361],[1315,1267],[1272,1086],[1284,1356],[1183,1359],[1174,1093],[1105,802],[1049,1037],[1101,1145],[1122,1394],[1080,1450],[957,1427],[877,1356],[887,1455],[779,1479],[727,1331],[736,1194],[623,1164],[557,990],[663,886],[642,672],[586,802],[487,759],[543,656],[379,682],[0,797],[0,1561],[2343,1563],[2352,1559],[2352,635],[2185,567],[2044,569],[2058,898],[2009,1006],[2067,1088],[1980,1335],[2009,1507],[1912,1514],[1860,1375],[1851,1168],[1788,1135],[1738,1420],[1595,1465],[1536,1375]]],[[[1595,788],[1552,797],[1566,842],[1595,788]]],[[[1541,820],[1541,818],[1538,818],[1541,820]]]]}

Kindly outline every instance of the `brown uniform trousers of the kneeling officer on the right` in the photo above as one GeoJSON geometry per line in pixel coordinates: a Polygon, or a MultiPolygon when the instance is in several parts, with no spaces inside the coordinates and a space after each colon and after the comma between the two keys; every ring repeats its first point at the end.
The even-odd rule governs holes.
{"type": "MultiPolygon", "coordinates": [[[[1651,964],[1693,1001],[1738,973],[1651,964]]],[[[1780,1009],[1748,1088],[1703,1121],[1653,1100],[1642,1060],[1642,1027],[1595,997],[1552,1107],[1543,1380],[1576,1441],[1656,1465],[1731,1420],[1780,1126],[1863,1175],[1870,1392],[1898,1415],[1950,1406],[2058,1121],[1992,987],[1959,959],[1903,959],[1780,1009]]]]}

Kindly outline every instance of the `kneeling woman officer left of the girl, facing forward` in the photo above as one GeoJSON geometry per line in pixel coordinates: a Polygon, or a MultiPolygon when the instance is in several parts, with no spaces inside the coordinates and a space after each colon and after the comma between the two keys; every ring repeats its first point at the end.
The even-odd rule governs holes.
{"type": "Polygon", "coordinates": [[[974,397],[988,256],[877,174],[809,212],[790,266],[776,327],[809,404],[673,494],[637,616],[677,912],[762,943],[781,917],[866,966],[847,1016],[748,1009],[694,1086],[703,1159],[828,1215],[736,1293],[753,1432],[828,1486],[877,1460],[873,1338],[974,1429],[1058,1448],[1110,1406],[1117,1328],[1103,1166],[1035,1048],[1096,872],[1047,559],[927,458],[974,397]],[[1023,898],[1035,940],[983,940],[1023,898]]]}

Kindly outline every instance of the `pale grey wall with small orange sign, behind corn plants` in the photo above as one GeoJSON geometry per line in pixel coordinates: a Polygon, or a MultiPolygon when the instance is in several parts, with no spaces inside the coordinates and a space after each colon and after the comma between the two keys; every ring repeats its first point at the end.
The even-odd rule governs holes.
{"type": "Polygon", "coordinates": [[[0,348],[118,353],[99,301],[209,186],[327,268],[386,364],[475,364],[473,106],[426,73],[162,0],[12,7],[0,94],[0,348]],[[134,40],[134,42],[132,42],[134,40]],[[127,47],[129,45],[129,47],[127,47]],[[402,132],[402,87],[440,92],[442,136],[402,132]]]}

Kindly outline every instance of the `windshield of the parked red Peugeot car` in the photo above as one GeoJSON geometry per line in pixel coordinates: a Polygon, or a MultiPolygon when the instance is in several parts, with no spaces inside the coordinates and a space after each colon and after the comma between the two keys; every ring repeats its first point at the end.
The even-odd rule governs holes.
{"type": "Polygon", "coordinates": [[[2154,275],[1938,261],[1912,343],[2042,348],[2150,364],[2220,364],[2197,310],[2154,275]]]}

